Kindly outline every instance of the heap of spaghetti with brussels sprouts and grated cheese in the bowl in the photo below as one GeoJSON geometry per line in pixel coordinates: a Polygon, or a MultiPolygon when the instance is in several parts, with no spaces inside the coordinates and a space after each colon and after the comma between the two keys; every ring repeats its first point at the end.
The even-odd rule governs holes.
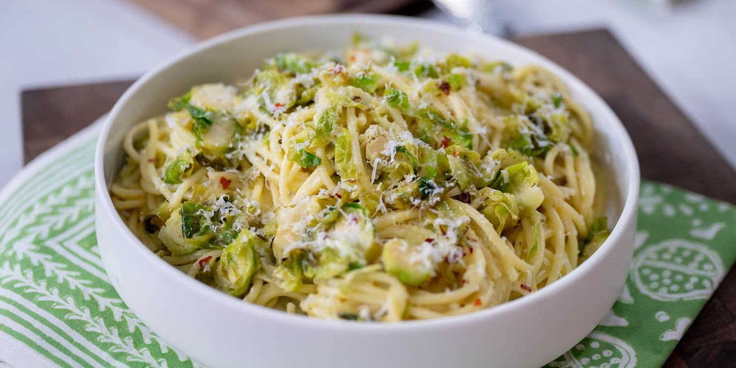
{"type": "Polygon", "coordinates": [[[164,261],[325,319],[465,314],[605,240],[592,121],[553,74],[357,38],[198,85],[132,127],[110,188],[164,261]]]}

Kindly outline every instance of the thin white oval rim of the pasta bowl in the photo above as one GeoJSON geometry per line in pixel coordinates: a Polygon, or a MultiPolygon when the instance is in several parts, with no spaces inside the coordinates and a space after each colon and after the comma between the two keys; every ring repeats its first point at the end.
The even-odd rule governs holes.
{"type": "MultiPolygon", "coordinates": [[[[269,322],[272,322],[274,324],[284,322],[293,327],[299,326],[301,328],[321,328],[325,330],[350,332],[360,331],[361,333],[383,333],[396,330],[423,330],[426,328],[456,328],[459,325],[475,324],[476,322],[481,322],[483,320],[489,320],[497,316],[502,316],[503,314],[509,313],[512,308],[519,308],[523,305],[534,304],[535,302],[537,302],[537,300],[551,297],[551,295],[556,294],[558,290],[565,289],[569,284],[573,283],[574,280],[589,274],[590,272],[592,272],[593,269],[598,266],[598,264],[603,262],[606,258],[606,255],[612,252],[612,248],[623,236],[626,228],[629,227],[630,223],[633,222],[634,219],[636,219],[637,198],[640,185],[639,162],[637,159],[636,151],[634,149],[634,145],[631,142],[631,138],[629,137],[628,132],[626,132],[626,129],[623,127],[623,124],[621,123],[618,116],[615,115],[611,108],[606,104],[606,102],[604,102],[603,99],[601,99],[600,96],[598,96],[597,93],[592,91],[592,88],[588,87],[584,82],[578,79],[578,77],[575,77],[572,73],[567,71],[565,68],[557,65],[553,61],[549,60],[547,57],[544,57],[541,54],[532,51],[531,49],[520,46],[517,43],[513,43],[509,40],[504,40],[503,38],[498,38],[492,35],[480,35],[481,37],[484,37],[486,41],[490,40],[494,43],[500,44],[500,46],[504,49],[511,49],[513,52],[526,54],[527,57],[546,64],[545,68],[551,68],[553,73],[560,76],[567,85],[575,85],[575,88],[571,89],[578,90],[580,94],[588,95],[588,97],[592,99],[594,104],[600,105],[601,108],[598,112],[601,113],[601,115],[603,115],[605,119],[609,121],[610,127],[608,127],[608,129],[612,130],[612,132],[614,133],[613,135],[615,135],[616,141],[618,141],[617,143],[620,144],[618,148],[622,149],[624,152],[627,165],[625,172],[629,175],[629,177],[626,182],[627,187],[621,188],[622,191],[626,190],[627,193],[618,222],[613,227],[611,234],[606,239],[601,248],[599,248],[598,251],[596,251],[586,262],[576,267],[576,269],[573,269],[573,271],[565,275],[565,277],[561,277],[561,280],[558,280],[549,286],[545,286],[544,288],[539,289],[538,291],[535,291],[534,293],[531,293],[529,295],[526,295],[525,297],[520,297],[516,300],[510,300],[509,302],[505,302],[503,304],[495,305],[491,308],[486,308],[484,310],[475,311],[469,314],[445,316],[436,319],[401,321],[400,323],[345,323],[346,321],[316,319],[308,316],[287,314],[283,311],[277,311],[272,308],[263,307],[262,305],[244,302],[243,300],[232,297],[229,294],[207,286],[204,283],[199,283],[197,280],[188,277],[183,272],[180,272],[178,269],[170,266],[169,263],[166,263],[166,261],[158,258],[154,252],[151,252],[151,250],[149,250],[138,238],[135,237],[130,229],[128,229],[127,225],[124,224],[120,216],[118,216],[118,213],[113,206],[110,193],[108,191],[109,186],[107,185],[107,182],[105,180],[104,171],[105,146],[107,146],[107,140],[110,135],[110,131],[112,130],[113,121],[115,121],[116,116],[118,116],[121,110],[124,109],[127,101],[133,95],[135,95],[135,93],[138,91],[139,88],[141,88],[141,86],[145,85],[149,81],[149,79],[152,79],[153,77],[155,77],[155,75],[159,74],[166,68],[173,66],[180,60],[184,60],[194,54],[198,54],[205,49],[209,49],[210,47],[217,46],[222,43],[228,43],[238,38],[253,37],[262,33],[275,31],[277,29],[297,28],[300,26],[319,26],[324,24],[344,24],[347,27],[350,27],[351,24],[371,24],[374,26],[408,25],[417,28],[432,27],[434,30],[439,29],[442,32],[450,32],[458,35],[463,33],[464,35],[473,35],[473,37],[479,36],[478,34],[472,34],[451,24],[443,24],[437,21],[431,21],[422,18],[411,18],[403,15],[339,14],[308,15],[293,18],[283,18],[277,21],[268,21],[252,26],[245,26],[243,28],[235,29],[233,31],[226,32],[222,35],[218,35],[214,38],[210,38],[208,40],[197,43],[194,46],[185,49],[183,52],[179,52],[173,57],[169,57],[169,59],[164,60],[162,63],[158,64],[158,66],[155,66],[155,68],[152,68],[151,70],[147,71],[143,76],[138,78],[129,88],[127,88],[120,99],[118,99],[113,109],[110,111],[110,115],[105,120],[105,123],[103,124],[102,130],[99,134],[99,140],[97,142],[95,150],[94,163],[94,177],[96,187],[95,195],[97,197],[97,205],[95,211],[102,211],[106,216],[115,217],[116,221],[113,221],[113,223],[115,224],[116,228],[107,231],[115,231],[116,233],[124,234],[124,239],[122,240],[122,242],[126,244],[131,244],[131,251],[137,252],[138,257],[143,257],[144,259],[146,259],[146,261],[148,261],[147,263],[159,264],[160,272],[164,272],[165,274],[168,274],[169,276],[174,278],[178,277],[181,286],[177,287],[188,289],[188,291],[193,294],[193,297],[196,296],[210,298],[211,303],[213,303],[213,305],[219,305],[220,308],[227,308],[230,311],[235,311],[238,314],[250,315],[255,318],[267,319],[269,320],[269,322]]],[[[141,266],[146,265],[144,264],[141,266]]]]}

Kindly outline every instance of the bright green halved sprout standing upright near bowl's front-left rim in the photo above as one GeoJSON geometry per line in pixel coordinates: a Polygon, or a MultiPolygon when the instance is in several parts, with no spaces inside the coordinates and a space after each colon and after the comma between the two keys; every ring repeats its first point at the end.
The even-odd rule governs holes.
{"type": "Polygon", "coordinates": [[[241,297],[250,288],[250,282],[258,270],[255,242],[258,236],[243,230],[238,238],[222,251],[215,269],[215,280],[220,289],[241,297]]]}

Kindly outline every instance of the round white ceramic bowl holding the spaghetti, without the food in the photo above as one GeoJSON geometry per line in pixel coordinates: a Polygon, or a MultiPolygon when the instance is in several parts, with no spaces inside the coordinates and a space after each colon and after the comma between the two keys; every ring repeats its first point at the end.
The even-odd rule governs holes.
{"type": "Polygon", "coordinates": [[[113,107],[95,162],[96,229],[107,274],[132,311],[174,347],[212,367],[539,367],[581,340],[615,302],[631,262],[639,189],[636,153],[611,109],[576,77],[514,43],[414,18],[336,15],[238,29],[200,43],[138,79],[113,107]],[[540,291],[484,311],[394,324],[293,316],[230,297],[150,252],[118,217],[108,194],[138,121],[171,96],[205,82],[250,76],[276,52],[341,49],[351,32],[419,40],[437,51],[537,63],[567,83],[592,114],[609,188],[608,240],[588,261],[540,291]]]}

